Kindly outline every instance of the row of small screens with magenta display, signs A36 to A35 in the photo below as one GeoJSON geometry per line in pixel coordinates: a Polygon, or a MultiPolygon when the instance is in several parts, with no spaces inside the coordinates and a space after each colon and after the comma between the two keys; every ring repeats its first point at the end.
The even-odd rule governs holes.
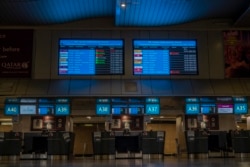
{"type": "Polygon", "coordinates": [[[248,114],[247,103],[187,103],[185,114],[248,114]]]}

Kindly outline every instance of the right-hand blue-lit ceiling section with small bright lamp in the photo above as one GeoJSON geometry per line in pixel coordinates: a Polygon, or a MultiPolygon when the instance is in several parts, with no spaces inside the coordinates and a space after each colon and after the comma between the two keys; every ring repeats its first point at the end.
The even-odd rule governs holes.
{"type": "Polygon", "coordinates": [[[166,26],[208,19],[236,20],[246,10],[244,0],[117,0],[117,26],[166,26]],[[121,4],[126,4],[122,7],[121,4]]]}

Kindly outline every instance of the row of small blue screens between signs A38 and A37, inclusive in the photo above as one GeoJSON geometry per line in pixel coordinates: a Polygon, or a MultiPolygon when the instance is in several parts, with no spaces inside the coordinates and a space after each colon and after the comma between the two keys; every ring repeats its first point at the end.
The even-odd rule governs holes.
{"type": "Polygon", "coordinates": [[[110,105],[96,104],[96,115],[160,115],[160,104],[110,105]]]}

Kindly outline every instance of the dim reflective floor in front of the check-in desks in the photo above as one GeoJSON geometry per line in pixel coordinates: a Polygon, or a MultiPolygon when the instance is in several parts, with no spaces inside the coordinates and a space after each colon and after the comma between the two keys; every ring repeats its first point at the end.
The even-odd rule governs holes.
{"type": "Polygon", "coordinates": [[[0,160],[0,167],[249,167],[250,158],[94,160],[0,160]]]}

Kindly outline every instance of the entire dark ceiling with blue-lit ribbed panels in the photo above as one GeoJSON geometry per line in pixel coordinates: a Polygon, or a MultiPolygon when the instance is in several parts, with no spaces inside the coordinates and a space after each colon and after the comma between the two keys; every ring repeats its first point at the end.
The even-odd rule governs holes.
{"type": "Polygon", "coordinates": [[[250,27],[249,4],[249,0],[0,0],[0,26],[56,25],[109,17],[116,27],[221,19],[239,28],[250,27]]]}

